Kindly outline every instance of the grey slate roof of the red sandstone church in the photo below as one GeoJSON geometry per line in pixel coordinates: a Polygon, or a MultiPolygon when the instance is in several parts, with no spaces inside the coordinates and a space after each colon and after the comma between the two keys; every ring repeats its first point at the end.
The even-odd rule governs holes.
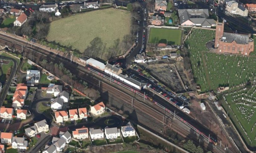
{"type": "Polygon", "coordinates": [[[236,34],[236,33],[223,33],[222,41],[228,42],[228,43],[236,41],[237,44],[248,44],[249,35],[242,35],[242,34],[236,34]]]}

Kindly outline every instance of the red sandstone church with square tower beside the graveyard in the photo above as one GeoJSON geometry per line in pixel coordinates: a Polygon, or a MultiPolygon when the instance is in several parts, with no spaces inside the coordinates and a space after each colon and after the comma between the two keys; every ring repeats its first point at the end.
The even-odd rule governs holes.
{"type": "Polygon", "coordinates": [[[216,26],[214,46],[218,52],[249,55],[254,51],[254,40],[250,38],[250,34],[224,33],[223,20],[223,23],[218,23],[216,26]]]}

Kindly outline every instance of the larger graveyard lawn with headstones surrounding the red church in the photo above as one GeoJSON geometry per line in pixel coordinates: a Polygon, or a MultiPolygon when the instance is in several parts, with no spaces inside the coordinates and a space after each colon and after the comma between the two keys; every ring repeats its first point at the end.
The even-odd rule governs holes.
{"type": "Polygon", "coordinates": [[[211,53],[205,44],[214,37],[215,31],[195,29],[186,40],[194,79],[202,92],[219,86],[234,87],[254,79],[256,58],[211,53]]]}

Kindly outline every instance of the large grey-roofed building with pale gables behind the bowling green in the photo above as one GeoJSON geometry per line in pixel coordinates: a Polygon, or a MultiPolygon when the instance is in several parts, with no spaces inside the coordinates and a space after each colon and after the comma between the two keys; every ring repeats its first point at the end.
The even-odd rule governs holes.
{"type": "Polygon", "coordinates": [[[216,21],[209,19],[208,9],[178,9],[178,14],[182,26],[216,26],[216,21]]]}

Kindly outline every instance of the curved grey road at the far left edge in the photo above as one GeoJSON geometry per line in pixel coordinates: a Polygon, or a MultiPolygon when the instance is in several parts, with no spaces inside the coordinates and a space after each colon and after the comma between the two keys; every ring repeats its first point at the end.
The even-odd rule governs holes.
{"type": "Polygon", "coordinates": [[[11,85],[11,81],[12,81],[12,79],[15,76],[15,73],[17,71],[17,61],[10,58],[10,57],[5,57],[5,56],[1,56],[1,55],[0,55],[0,58],[6,58],[6,59],[10,59],[11,61],[13,61],[13,68],[12,68],[11,74],[10,74],[7,82],[5,83],[5,85],[2,85],[2,86],[4,86],[4,88],[2,90],[2,93],[1,93],[1,98],[0,98],[0,106],[2,106],[3,102],[4,102],[4,99],[6,97],[6,94],[9,90],[10,85],[11,85]]]}

